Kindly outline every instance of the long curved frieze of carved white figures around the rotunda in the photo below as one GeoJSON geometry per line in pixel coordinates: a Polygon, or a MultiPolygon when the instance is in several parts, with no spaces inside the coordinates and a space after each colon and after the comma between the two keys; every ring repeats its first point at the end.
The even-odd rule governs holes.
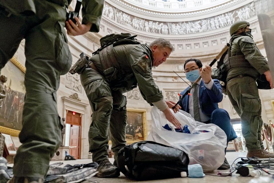
{"type": "Polygon", "coordinates": [[[233,11],[214,17],[184,22],[158,22],[132,16],[112,5],[105,3],[103,16],[108,20],[131,27],[131,29],[147,33],[165,35],[184,35],[212,31],[228,27],[238,20],[246,20],[256,15],[254,2],[233,11]]]}

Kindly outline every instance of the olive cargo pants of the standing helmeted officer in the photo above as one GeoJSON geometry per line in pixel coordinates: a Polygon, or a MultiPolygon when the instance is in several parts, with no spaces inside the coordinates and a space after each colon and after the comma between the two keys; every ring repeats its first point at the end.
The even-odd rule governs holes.
{"type": "Polygon", "coordinates": [[[252,77],[236,77],[227,82],[227,95],[241,118],[243,137],[248,151],[263,149],[261,140],[261,100],[252,77]]]}

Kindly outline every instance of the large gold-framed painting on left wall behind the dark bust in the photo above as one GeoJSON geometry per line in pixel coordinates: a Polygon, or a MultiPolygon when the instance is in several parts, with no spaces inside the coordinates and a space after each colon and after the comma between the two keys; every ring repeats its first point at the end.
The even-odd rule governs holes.
{"type": "Polygon", "coordinates": [[[0,82],[1,94],[5,95],[0,99],[0,132],[12,136],[18,136],[22,129],[25,70],[14,57],[1,69],[1,75],[5,75],[7,81],[0,82]]]}

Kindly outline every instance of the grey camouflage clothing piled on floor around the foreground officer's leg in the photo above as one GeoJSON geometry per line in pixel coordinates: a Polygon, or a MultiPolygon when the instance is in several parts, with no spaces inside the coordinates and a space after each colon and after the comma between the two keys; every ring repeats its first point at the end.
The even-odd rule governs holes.
{"type": "MultiPolygon", "coordinates": [[[[45,183],[77,183],[83,180],[90,180],[97,172],[96,162],[88,164],[63,165],[57,162],[49,166],[45,183]]],[[[0,157],[0,183],[6,183],[13,177],[13,169],[7,167],[7,160],[0,157]]]]}

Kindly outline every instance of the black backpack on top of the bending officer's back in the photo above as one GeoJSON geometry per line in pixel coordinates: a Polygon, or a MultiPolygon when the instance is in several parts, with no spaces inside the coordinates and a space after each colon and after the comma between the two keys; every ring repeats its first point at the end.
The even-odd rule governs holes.
{"type": "Polygon", "coordinates": [[[96,55],[99,51],[101,51],[104,47],[113,44],[114,46],[122,45],[122,44],[141,44],[135,39],[137,35],[131,35],[130,33],[120,33],[120,34],[109,34],[100,39],[101,47],[94,51],[92,55],[96,55]]]}

